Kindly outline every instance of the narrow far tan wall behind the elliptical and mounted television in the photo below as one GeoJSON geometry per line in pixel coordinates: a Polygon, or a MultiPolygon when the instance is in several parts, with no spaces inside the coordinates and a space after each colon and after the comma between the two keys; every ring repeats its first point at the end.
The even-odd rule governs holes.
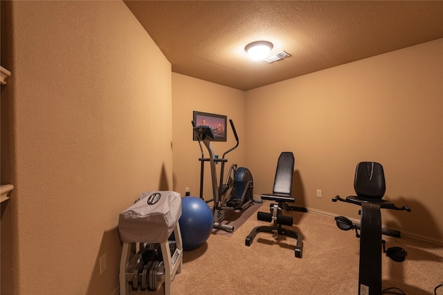
{"type": "MultiPolygon", "coordinates": [[[[200,192],[201,151],[198,142],[192,141],[193,111],[226,115],[228,119],[233,120],[239,136],[239,146],[226,155],[228,164],[225,167],[225,175],[228,173],[230,164],[246,165],[245,104],[244,91],[172,73],[172,135],[174,137],[172,149],[175,191],[184,195],[185,188],[189,187],[191,196],[199,196],[200,192]]],[[[226,129],[228,129],[227,141],[213,142],[213,149],[220,158],[224,151],[235,145],[230,125],[226,129]]],[[[208,157],[206,147],[203,146],[203,149],[205,157],[208,157]]],[[[220,166],[220,164],[217,165],[218,173],[220,166]]],[[[204,198],[209,200],[212,196],[210,165],[206,162],[204,198]]]]}

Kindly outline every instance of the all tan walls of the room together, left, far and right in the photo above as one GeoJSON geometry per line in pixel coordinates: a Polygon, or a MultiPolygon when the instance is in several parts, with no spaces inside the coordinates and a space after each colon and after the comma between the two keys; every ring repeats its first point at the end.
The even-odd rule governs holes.
{"type": "MultiPolygon", "coordinates": [[[[123,2],[15,1],[9,8],[2,26],[10,21],[12,77],[1,112],[6,105],[12,144],[3,149],[2,126],[8,157],[1,160],[10,164],[2,163],[9,175],[1,180],[16,188],[2,204],[12,240],[2,230],[1,247],[6,242],[12,257],[6,287],[14,294],[116,290],[118,213],[141,191],[190,187],[198,195],[192,111],[233,118],[241,142],[229,163],[251,169],[255,193],[272,189],[278,155],[293,151],[297,202],[357,218],[357,207],[330,199],[352,194],[356,162],[379,161],[386,198],[413,209],[383,211],[384,223],[443,238],[442,39],[244,93],[171,77],[170,63],[123,2]],[[99,276],[105,252],[108,269],[99,276]]],[[[229,133],[215,151],[233,143],[229,133]]],[[[2,278],[3,262],[2,255],[2,278]]]]}

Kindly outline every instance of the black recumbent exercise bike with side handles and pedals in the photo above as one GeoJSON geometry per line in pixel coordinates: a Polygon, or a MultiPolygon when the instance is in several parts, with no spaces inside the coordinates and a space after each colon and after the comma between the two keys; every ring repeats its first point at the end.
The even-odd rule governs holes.
{"type": "Polygon", "coordinates": [[[407,205],[397,207],[392,202],[382,200],[386,191],[383,166],[377,162],[360,162],[356,166],[354,189],[357,196],[340,196],[332,198],[332,202],[348,202],[361,206],[360,224],[352,222],[345,216],[336,216],[336,225],[339,229],[349,231],[355,229],[356,237],[360,238],[359,264],[359,295],[381,294],[381,245],[383,253],[392,260],[401,263],[406,259],[408,252],[401,247],[390,247],[386,250],[386,242],[382,235],[399,238],[400,231],[381,228],[381,209],[406,210],[407,205]],[[357,231],[360,229],[360,234],[357,231]]]}

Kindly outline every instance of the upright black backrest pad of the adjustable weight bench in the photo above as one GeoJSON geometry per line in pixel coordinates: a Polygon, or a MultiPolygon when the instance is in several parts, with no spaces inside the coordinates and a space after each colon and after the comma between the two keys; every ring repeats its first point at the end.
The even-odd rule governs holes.
{"type": "Polygon", "coordinates": [[[292,152],[284,151],[280,154],[277,171],[275,171],[273,193],[291,195],[294,162],[292,152]]]}

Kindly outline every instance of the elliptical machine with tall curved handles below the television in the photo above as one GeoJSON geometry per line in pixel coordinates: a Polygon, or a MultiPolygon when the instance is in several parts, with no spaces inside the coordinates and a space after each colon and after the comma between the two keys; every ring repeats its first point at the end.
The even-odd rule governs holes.
{"type": "Polygon", "coordinates": [[[253,198],[253,177],[251,171],[244,167],[238,167],[237,164],[232,164],[228,171],[228,177],[226,182],[224,180],[224,166],[228,162],[226,154],[230,153],[237,148],[239,144],[237,131],[233,120],[229,119],[230,127],[233,130],[236,144],[232,148],[225,151],[221,158],[215,158],[215,153],[211,141],[215,139],[214,131],[210,126],[195,126],[195,122],[192,121],[193,132],[197,136],[201,149],[201,180],[200,180],[200,198],[203,199],[203,173],[204,162],[210,162],[211,184],[213,188],[213,199],[206,202],[214,201],[213,215],[214,215],[214,228],[223,229],[224,231],[232,232],[234,227],[232,225],[222,225],[221,222],[225,218],[226,211],[242,211],[246,209],[253,202],[262,202],[261,200],[254,200],[253,198]],[[201,142],[208,149],[209,158],[204,158],[204,152],[201,148],[201,142]],[[220,180],[217,186],[217,170],[215,164],[221,162],[220,167],[220,180]],[[233,180],[231,179],[233,175],[233,180]]]}

